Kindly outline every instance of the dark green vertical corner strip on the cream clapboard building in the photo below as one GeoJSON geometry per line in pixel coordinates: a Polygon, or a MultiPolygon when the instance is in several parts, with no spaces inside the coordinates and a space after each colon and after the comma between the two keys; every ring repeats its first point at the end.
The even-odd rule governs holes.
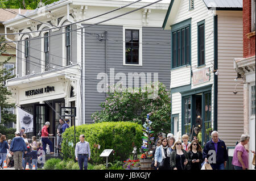
{"type": "MultiPolygon", "coordinates": [[[[214,15],[214,70],[218,69],[218,16],[214,15]]],[[[213,115],[213,129],[218,129],[218,75],[214,74],[214,115],[213,115]]]]}

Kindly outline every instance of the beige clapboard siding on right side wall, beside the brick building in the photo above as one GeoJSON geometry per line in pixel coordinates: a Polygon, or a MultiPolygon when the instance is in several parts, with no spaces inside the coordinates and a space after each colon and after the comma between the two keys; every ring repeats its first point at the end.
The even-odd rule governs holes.
{"type": "Polygon", "coordinates": [[[242,11],[217,11],[218,15],[218,133],[226,146],[236,146],[243,133],[243,85],[233,68],[243,56],[242,11]]]}

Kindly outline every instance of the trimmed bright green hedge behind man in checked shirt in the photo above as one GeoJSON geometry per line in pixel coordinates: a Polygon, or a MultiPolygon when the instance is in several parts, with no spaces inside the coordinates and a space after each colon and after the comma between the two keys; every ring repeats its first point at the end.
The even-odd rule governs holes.
{"type": "MultiPolygon", "coordinates": [[[[96,124],[84,124],[76,127],[76,142],[79,142],[79,136],[85,135],[85,141],[89,142],[91,159],[90,163],[105,163],[106,158],[100,157],[105,149],[114,149],[115,154],[111,154],[110,159],[119,161],[126,160],[133,151],[133,145],[138,150],[142,143],[142,126],[131,122],[104,122],[96,124]],[[100,145],[100,149],[94,145],[100,145]]],[[[64,159],[75,159],[76,144],[74,135],[74,127],[66,129],[63,134],[62,152],[64,159]]],[[[137,151],[138,151],[137,150],[137,151]]]]}

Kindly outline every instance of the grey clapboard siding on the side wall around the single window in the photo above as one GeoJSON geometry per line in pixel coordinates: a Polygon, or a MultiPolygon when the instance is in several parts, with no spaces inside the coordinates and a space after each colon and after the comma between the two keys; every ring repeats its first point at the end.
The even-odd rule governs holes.
{"type": "MultiPolygon", "coordinates": [[[[86,26],[86,25],[84,25],[86,26]]],[[[97,25],[86,28],[87,33],[102,33],[108,31],[107,41],[107,73],[110,84],[110,68],[114,73],[158,73],[159,82],[164,83],[170,89],[170,31],[158,27],[142,27],[142,65],[123,65],[123,27],[97,25]],[[156,36],[157,35],[157,36],[156,36]]],[[[100,104],[105,101],[105,92],[97,91],[98,73],[105,73],[105,41],[99,41],[97,36],[85,36],[85,71],[84,71],[84,95],[85,95],[85,122],[92,123],[92,113],[100,111],[100,104]]],[[[115,83],[119,80],[115,79],[115,83]]],[[[127,81],[127,79],[126,79],[127,81]]],[[[128,86],[128,83],[127,83],[128,86]]],[[[141,84],[139,84],[141,86],[141,84]]]]}

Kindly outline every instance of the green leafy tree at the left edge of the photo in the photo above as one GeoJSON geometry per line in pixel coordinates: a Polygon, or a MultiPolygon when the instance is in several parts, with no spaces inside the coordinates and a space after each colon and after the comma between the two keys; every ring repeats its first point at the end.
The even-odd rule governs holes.
{"type": "MultiPolygon", "coordinates": [[[[0,37],[0,53],[6,53],[6,44],[3,44],[5,39],[0,37]]],[[[15,75],[11,75],[11,71],[13,69],[7,70],[3,68],[4,64],[8,64],[11,57],[8,57],[5,61],[0,62],[0,107],[1,107],[1,124],[14,122],[16,123],[16,115],[8,113],[8,108],[13,108],[15,104],[11,104],[8,102],[9,97],[12,95],[11,91],[7,89],[7,87],[3,84],[7,79],[14,78],[15,75]]]]}

